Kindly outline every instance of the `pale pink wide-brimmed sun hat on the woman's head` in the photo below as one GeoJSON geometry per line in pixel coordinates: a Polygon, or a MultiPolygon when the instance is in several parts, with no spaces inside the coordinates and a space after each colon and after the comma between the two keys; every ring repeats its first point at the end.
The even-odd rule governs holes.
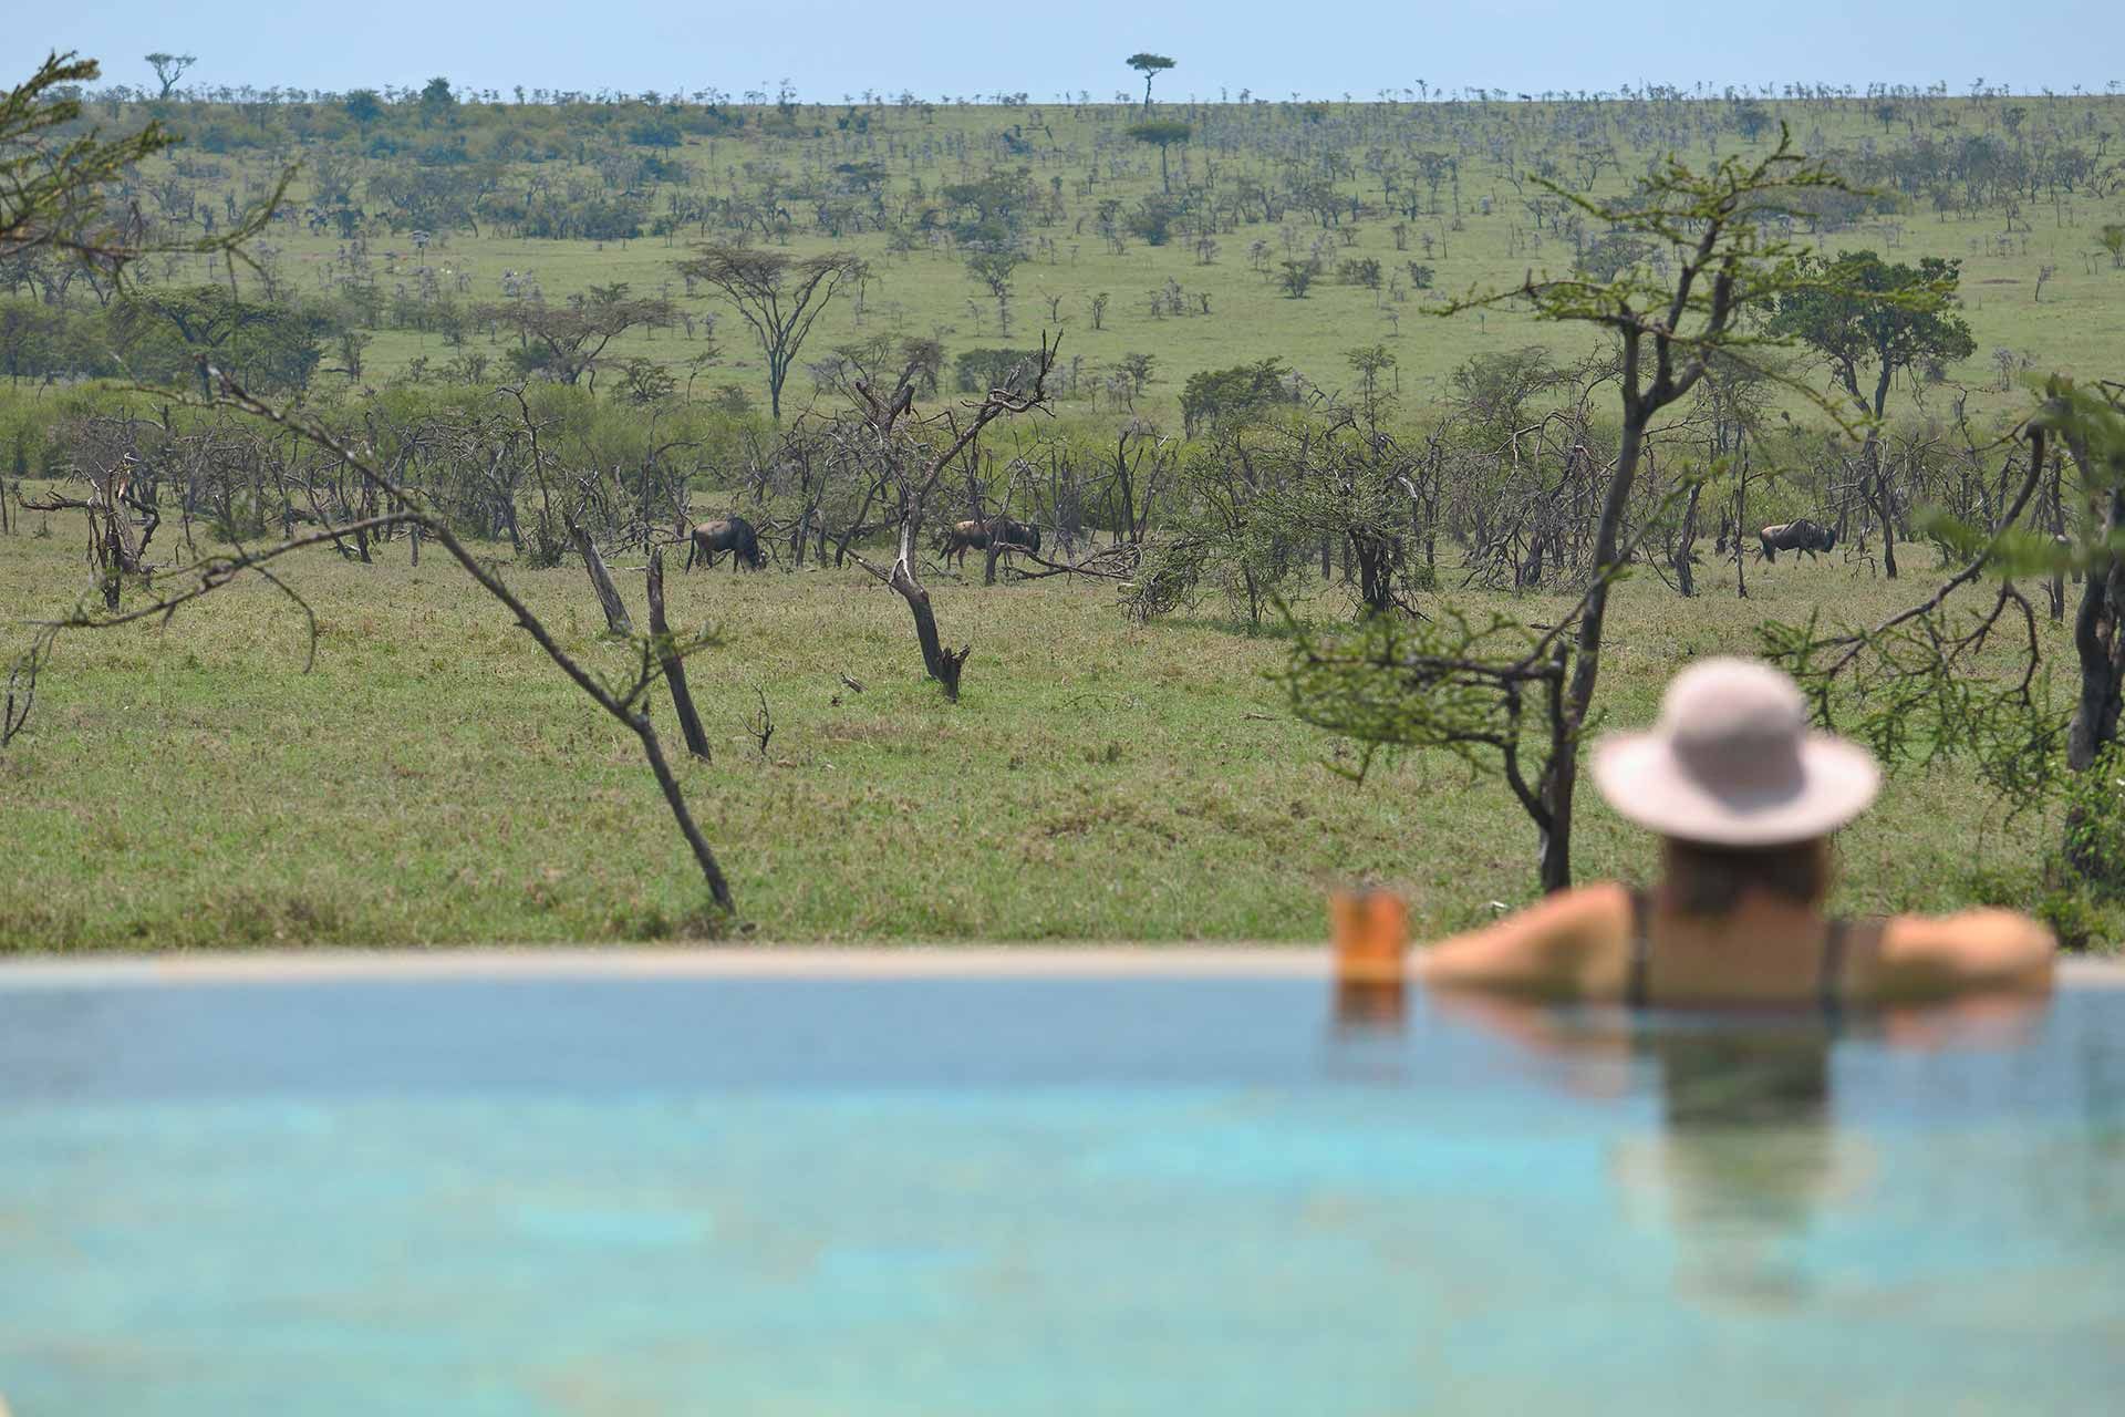
{"type": "Polygon", "coordinates": [[[1808,703],[1785,673],[1706,659],[1674,676],[1649,733],[1594,746],[1594,786],[1664,837],[1791,846],[1866,812],[1881,769],[1866,748],[1808,731],[1808,703]]]}

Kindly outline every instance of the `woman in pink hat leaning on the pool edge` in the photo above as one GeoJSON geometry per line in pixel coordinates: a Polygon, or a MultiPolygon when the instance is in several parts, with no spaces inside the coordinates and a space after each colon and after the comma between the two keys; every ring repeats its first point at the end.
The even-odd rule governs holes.
{"type": "Polygon", "coordinates": [[[1808,731],[1800,688],[1768,665],[1713,659],[1668,684],[1651,733],[1594,748],[1594,782],[1660,833],[1649,892],[1583,886],[1432,945],[1434,988],[1630,1005],[1893,1003],[2051,988],[2055,941],[2004,909],[1844,922],[1823,914],[1830,833],[1881,771],[1808,731]]]}

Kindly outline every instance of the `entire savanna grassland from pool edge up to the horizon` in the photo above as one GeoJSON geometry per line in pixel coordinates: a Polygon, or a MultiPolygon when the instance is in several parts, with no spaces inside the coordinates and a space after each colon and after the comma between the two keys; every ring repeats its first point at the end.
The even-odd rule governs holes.
{"type": "MultiPolygon", "coordinates": [[[[283,174],[287,200],[244,261],[147,255],[123,291],[94,263],[0,263],[6,633],[28,642],[98,591],[108,614],[151,603],[157,574],[168,584],[204,557],[374,510],[344,459],[185,408],[208,353],[406,478],[599,673],[625,676],[638,648],[606,633],[561,546],[563,514],[606,544],[640,616],[644,548],[742,512],[769,569],[672,578],[676,629],[716,631],[691,661],[714,761],[678,754],[663,688],[650,701],[740,922],[771,941],[1315,939],[1322,892],[1356,877],[1402,890],[1424,933],[1532,899],[1534,831],[1496,775],[1432,752],[1347,782],[1354,748],[1300,722],[1271,678],[1290,631],[1277,614],[1252,622],[1232,586],[1245,576],[1252,597],[1252,571],[1273,563],[1254,610],[1281,595],[1328,633],[1354,620],[1352,552],[1392,540],[1398,614],[1547,627],[1583,605],[1590,470],[1617,457],[1609,336],[1511,304],[1434,319],[1451,295],[1530,270],[1664,278],[1683,259],[1570,195],[1619,198],[1670,153],[1700,170],[1762,157],[1783,125],[1844,189],[1806,193],[1772,236],[1825,259],[1959,261],[1949,308],[1970,336],[1966,355],[1912,359],[1893,380],[1889,461],[1876,459],[1893,472],[1870,474],[1810,404],[1830,368],[1800,346],[1794,387],[1728,399],[1706,380],[1651,429],[1626,508],[1643,554],[1609,612],[1600,724],[1649,722],[1674,669],[1757,652],[1766,620],[1872,625],[1923,597],[1951,550],[1968,552],[1930,529],[1932,503],[1980,529],[2004,514],[2027,378],[2116,376],[2125,348],[2119,96],[1145,110],[512,104],[436,81],[368,98],[91,93],[83,125],[149,117],[185,142],[115,185],[144,244],[210,238],[283,174]],[[680,270],[710,244],[856,261],[810,327],[780,421],[752,331],[680,270]],[[523,334],[527,310],[620,308],[638,317],[584,359],[546,359],[523,334]],[[922,673],[907,605],[842,557],[890,559],[880,508],[905,482],[856,455],[835,463],[835,448],[876,433],[848,419],[858,374],[892,387],[910,353],[926,361],[935,431],[988,389],[956,378],[960,357],[1043,338],[1062,342],[1046,406],[999,421],[952,467],[920,508],[924,533],[1005,506],[1082,533],[1050,554],[1105,542],[1141,571],[1226,516],[1213,533],[1230,559],[1143,614],[1116,580],[982,584],[980,561],[948,574],[924,559],[944,639],[973,646],[952,703],[922,673]],[[1530,346],[1547,353],[1528,359],[1530,346]],[[1237,365],[1269,368],[1254,404],[1184,412],[1190,378],[1237,365]],[[1345,476],[1324,448],[1364,470],[1345,476]],[[1116,491],[1118,455],[1162,478],[1137,484],[1141,503],[1116,491]],[[1252,465],[1232,478],[1250,457],[1286,463],[1264,482],[1252,465]],[[117,506],[113,478],[134,467],[159,486],[155,565],[98,576],[85,512],[96,497],[117,506]],[[1428,478],[1422,495],[1411,478],[1428,478]],[[1232,499],[1269,482],[1284,501],[1260,506],[1275,516],[1326,520],[1243,525],[1232,499]],[[1409,497],[1354,510],[1358,482],[1409,497]],[[1802,514],[1842,544],[1821,561],[1747,561],[1738,597],[1726,533],[1802,514]],[[1885,523],[1900,580],[1878,554],[1885,523]],[[1692,546],[1698,595],[1683,597],[1670,569],[1692,565],[1692,546]],[[771,737],[750,727],[763,712],[771,737]]],[[[2053,518],[2044,548],[2074,512],[2059,491],[2074,484],[2046,476],[2025,499],[2053,518]]],[[[134,512],[144,520],[144,508],[119,520],[134,512]]],[[[2102,535],[2097,520],[2089,544],[2102,535]]],[[[370,550],[276,563],[314,612],[308,669],[304,612],[255,576],[166,622],[57,637],[34,718],[0,750],[0,950],[735,928],[706,909],[635,741],[459,567],[434,552],[414,567],[404,537],[370,550]]],[[[1124,586],[1145,582],[1128,574],[1124,586]]],[[[2063,724],[2072,614],[2034,608],[2040,578],[2025,571],[2027,646],[2048,665],[2032,682],[2063,724]]],[[[2010,625],[1957,671],[2012,684],[2023,631],[2010,625]]],[[[2116,901],[2061,884],[2063,816],[2034,790],[2010,812],[1955,754],[1906,767],[1840,839],[1838,907],[2000,901],[2114,941],[2116,901]]],[[[1583,790],[1572,865],[1643,877],[1651,843],[1583,790]]]]}

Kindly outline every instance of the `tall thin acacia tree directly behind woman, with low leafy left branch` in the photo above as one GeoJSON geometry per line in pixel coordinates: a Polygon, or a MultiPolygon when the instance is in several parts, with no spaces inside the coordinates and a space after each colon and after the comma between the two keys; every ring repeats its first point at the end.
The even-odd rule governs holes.
{"type": "Polygon", "coordinates": [[[1475,625],[1451,608],[1413,625],[1366,616],[1358,633],[1341,642],[1324,642],[1294,625],[1286,682],[1296,714],[1358,739],[1364,765],[1383,750],[1402,748],[1445,748],[1483,761],[1494,754],[1536,826],[1543,890],[1562,890],[1570,886],[1579,746],[1594,714],[1609,591],[1632,550],[1626,512],[1647,431],[1713,361],[1747,361],[1751,348],[1774,342],[1770,334],[1742,327],[1745,310],[1768,308],[1787,291],[1825,280],[1802,270],[1802,251],[1770,223],[1815,191],[1844,183],[1825,164],[1798,155],[1791,136],[1781,132],[1770,155],[1728,157],[1704,174],[1670,155],[1621,198],[1592,200],[1545,185],[1604,227],[1681,251],[1672,280],[1630,263],[1609,278],[1585,272],[1528,276],[1515,289],[1447,306],[1447,312],[1524,306],[1536,319],[1598,325],[1619,344],[1624,427],[1606,474],[1585,593],[1541,637],[1502,620],[1475,625]],[[1530,722],[1547,727],[1534,765],[1522,761],[1530,722]]]}

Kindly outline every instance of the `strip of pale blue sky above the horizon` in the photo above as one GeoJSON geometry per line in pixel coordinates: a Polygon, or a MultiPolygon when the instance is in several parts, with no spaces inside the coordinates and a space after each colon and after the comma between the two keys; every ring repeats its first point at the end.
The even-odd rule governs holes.
{"type": "Polygon", "coordinates": [[[1141,91],[1122,64],[1152,49],[1179,59],[1158,81],[1167,98],[1252,89],[1360,98],[1379,89],[1488,87],[1507,91],[1617,89],[1643,81],[1910,83],[1976,79],[2021,91],[2125,81],[2125,19],[2116,0],[2042,6],[1957,0],[1781,0],[1706,6],[1715,19],[1681,21],[1683,4],[1130,4],[1077,0],[1028,6],[888,6],[878,0],[774,0],[765,4],[353,4],[278,6],[168,0],[23,4],[0,32],[8,76],[47,49],[104,62],[115,83],[147,83],[151,49],[200,55],[187,83],[346,89],[421,83],[459,87],[623,87],[742,93],[790,79],[801,98],[907,87],[922,98],[1026,91],[1035,100],[1090,89],[1141,91]],[[1012,13],[1037,19],[1009,19],[1012,13]],[[1774,17],[1774,25],[1757,17],[1774,17]],[[2032,21],[2040,17],[2040,21],[2032,21]],[[2080,36],[2076,42],[2074,36],[2080,36]]]}

